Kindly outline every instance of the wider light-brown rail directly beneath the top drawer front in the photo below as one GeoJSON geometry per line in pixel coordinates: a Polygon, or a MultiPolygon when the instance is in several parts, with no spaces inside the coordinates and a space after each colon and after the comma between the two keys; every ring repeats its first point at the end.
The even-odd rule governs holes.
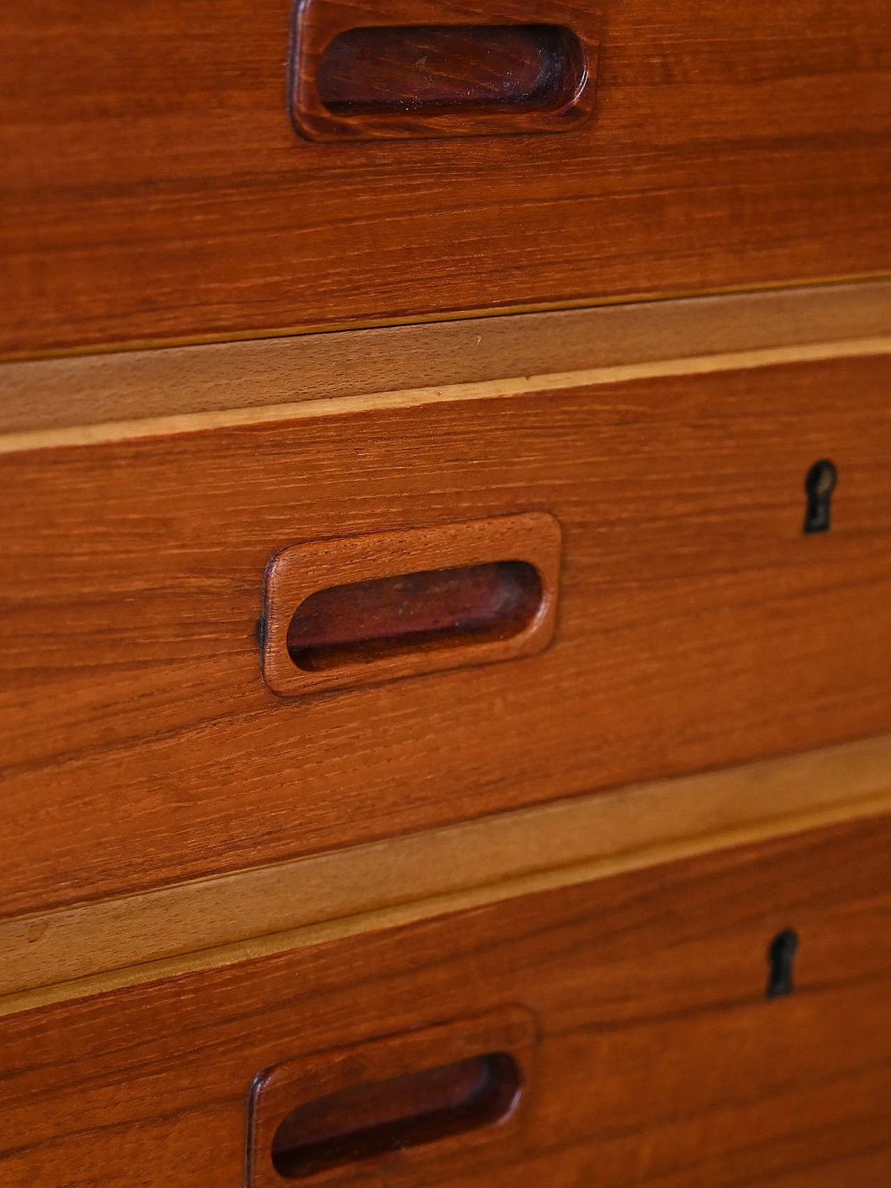
{"type": "Polygon", "coordinates": [[[0,434],[891,335],[891,280],[0,365],[0,434]]]}

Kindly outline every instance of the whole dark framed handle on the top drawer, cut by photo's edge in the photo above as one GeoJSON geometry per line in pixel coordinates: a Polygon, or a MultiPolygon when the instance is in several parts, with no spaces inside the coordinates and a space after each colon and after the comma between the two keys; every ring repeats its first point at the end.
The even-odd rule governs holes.
{"type": "Polygon", "coordinates": [[[364,140],[581,124],[594,105],[599,12],[563,0],[507,0],[497,12],[493,23],[485,6],[449,0],[303,0],[292,38],[295,127],[310,140],[364,140]]]}

